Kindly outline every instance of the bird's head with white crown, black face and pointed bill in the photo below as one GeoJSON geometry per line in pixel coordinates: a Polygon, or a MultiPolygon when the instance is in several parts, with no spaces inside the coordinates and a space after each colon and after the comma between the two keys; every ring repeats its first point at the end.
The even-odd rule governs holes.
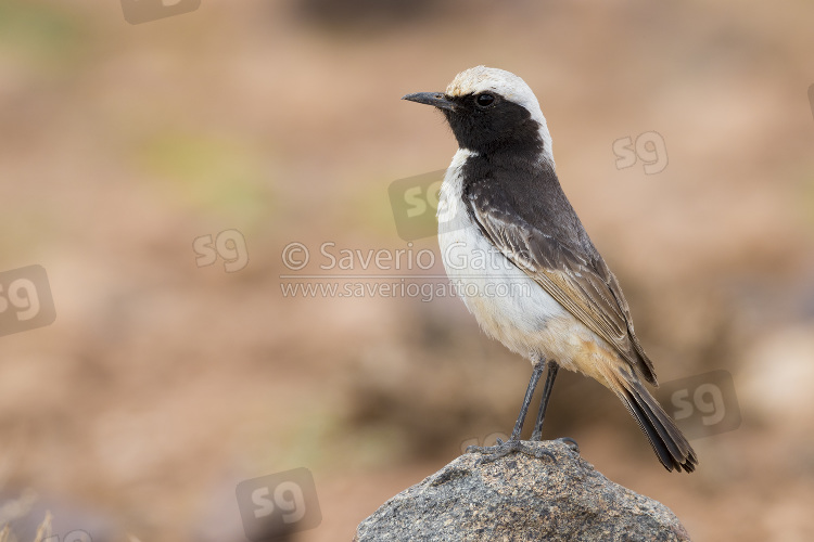
{"type": "Polygon", "coordinates": [[[403,100],[443,112],[461,149],[535,155],[554,167],[546,118],[532,89],[514,74],[476,66],[455,76],[444,92],[417,92],[403,100]]]}

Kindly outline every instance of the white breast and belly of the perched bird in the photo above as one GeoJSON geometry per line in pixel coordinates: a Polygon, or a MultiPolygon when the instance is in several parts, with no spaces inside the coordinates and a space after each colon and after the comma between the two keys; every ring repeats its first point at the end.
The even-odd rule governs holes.
{"type": "Polygon", "coordinates": [[[560,344],[571,343],[562,332],[583,326],[500,254],[470,219],[461,199],[461,169],[472,155],[459,150],[441,186],[438,244],[446,273],[488,335],[522,356],[542,353],[568,364],[574,352],[560,344]]]}

